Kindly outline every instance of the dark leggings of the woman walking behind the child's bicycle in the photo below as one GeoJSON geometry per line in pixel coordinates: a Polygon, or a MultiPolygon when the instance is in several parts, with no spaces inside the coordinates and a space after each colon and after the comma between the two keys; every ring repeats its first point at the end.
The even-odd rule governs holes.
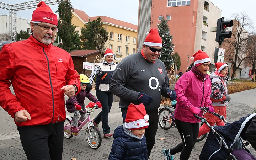
{"type": "Polygon", "coordinates": [[[111,92],[96,91],[96,96],[101,102],[101,112],[94,118],[96,124],[102,123],[102,129],[104,134],[110,133],[110,127],[108,126],[108,113],[110,112],[114,94],[111,92]]]}

